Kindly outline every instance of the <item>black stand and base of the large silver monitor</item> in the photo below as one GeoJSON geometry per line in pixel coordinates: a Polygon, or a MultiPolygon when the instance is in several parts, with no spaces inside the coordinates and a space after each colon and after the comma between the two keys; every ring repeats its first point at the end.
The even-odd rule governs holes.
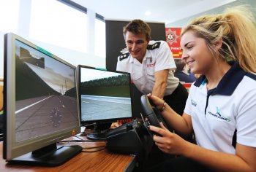
{"type": "Polygon", "coordinates": [[[82,151],[82,146],[57,146],[50,144],[34,152],[29,152],[20,157],[16,157],[8,163],[22,165],[39,165],[39,166],[58,166],[67,162],[75,155],[82,151]]]}

